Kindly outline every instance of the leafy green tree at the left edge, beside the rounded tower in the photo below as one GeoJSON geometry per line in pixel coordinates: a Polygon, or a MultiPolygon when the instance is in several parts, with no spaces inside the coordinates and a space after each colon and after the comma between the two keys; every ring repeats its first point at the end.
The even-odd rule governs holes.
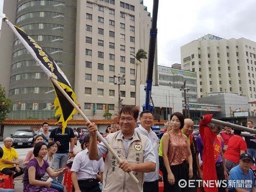
{"type": "Polygon", "coordinates": [[[0,124],[7,117],[7,113],[11,112],[12,100],[6,97],[5,87],[0,84],[0,124]]]}

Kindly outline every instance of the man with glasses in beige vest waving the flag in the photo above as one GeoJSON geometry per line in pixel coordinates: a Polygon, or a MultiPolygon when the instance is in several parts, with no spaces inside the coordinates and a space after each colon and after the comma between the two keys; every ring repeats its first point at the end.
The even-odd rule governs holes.
{"type": "Polygon", "coordinates": [[[108,151],[104,143],[97,145],[97,126],[87,122],[87,130],[92,134],[89,146],[89,159],[99,160],[103,154],[105,159],[105,173],[103,175],[102,192],[124,191],[143,192],[144,172],[154,172],[156,158],[151,141],[145,135],[135,131],[139,111],[133,106],[125,106],[120,111],[120,131],[109,134],[105,140],[122,159],[116,158],[108,151]],[[136,184],[128,175],[131,172],[138,180],[136,184]]]}

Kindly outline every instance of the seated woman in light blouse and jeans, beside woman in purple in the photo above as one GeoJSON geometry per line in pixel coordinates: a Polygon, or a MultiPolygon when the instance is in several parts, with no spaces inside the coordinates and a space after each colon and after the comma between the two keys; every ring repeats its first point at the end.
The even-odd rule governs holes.
{"type": "MultiPolygon", "coordinates": [[[[58,145],[55,141],[48,143],[48,145],[47,145],[48,155],[46,157],[44,157],[44,160],[47,161],[50,168],[52,168],[53,154],[55,154],[57,152],[57,149],[58,149],[58,145]]],[[[54,171],[56,171],[56,170],[54,170],[54,171]]],[[[57,170],[57,172],[58,171],[59,170],[57,170]]],[[[44,176],[42,177],[42,180],[47,181],[48,178],[49,178],[49,174],[46,172],[44,174],[44,176]]],[[[64,191],[64,186],[61,183],[58,183],[54,180],[52,181],[52,185],[50,186],[50,188],[57,189],[59,192],[64,191]]]]}

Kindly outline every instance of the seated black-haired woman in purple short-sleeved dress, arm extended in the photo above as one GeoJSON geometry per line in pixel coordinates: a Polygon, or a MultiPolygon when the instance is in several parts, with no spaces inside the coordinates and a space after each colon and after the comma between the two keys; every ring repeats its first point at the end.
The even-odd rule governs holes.
{"type": "Polygon", "coordinates": [[[30,160],[24,172],[23,192],[58,192],[50,188],[51,181],[42,181],[41,178],[47,172],[51,177],[57,177],[67,171],[66,168],[55,172],[43,158],[47,155],[45,143],[37,143],[34,148],[35,158],[30,160]]]}

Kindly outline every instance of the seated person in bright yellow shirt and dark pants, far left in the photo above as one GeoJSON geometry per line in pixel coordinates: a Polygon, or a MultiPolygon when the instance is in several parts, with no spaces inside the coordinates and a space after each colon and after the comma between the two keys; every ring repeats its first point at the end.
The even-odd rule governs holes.
{"type": "Polygon", "coordinates": [[[0,159],[0,171],[3,174],[12,176],[12,172],[15,172],[13,179],[23,174],[23,169],[19,167],[19,156],[15,148],[12,148],[12,138],[6,137],[3,140],[3,157],[0,159]],[[15,165],[14,165],[15,164],[15,165]]]}

